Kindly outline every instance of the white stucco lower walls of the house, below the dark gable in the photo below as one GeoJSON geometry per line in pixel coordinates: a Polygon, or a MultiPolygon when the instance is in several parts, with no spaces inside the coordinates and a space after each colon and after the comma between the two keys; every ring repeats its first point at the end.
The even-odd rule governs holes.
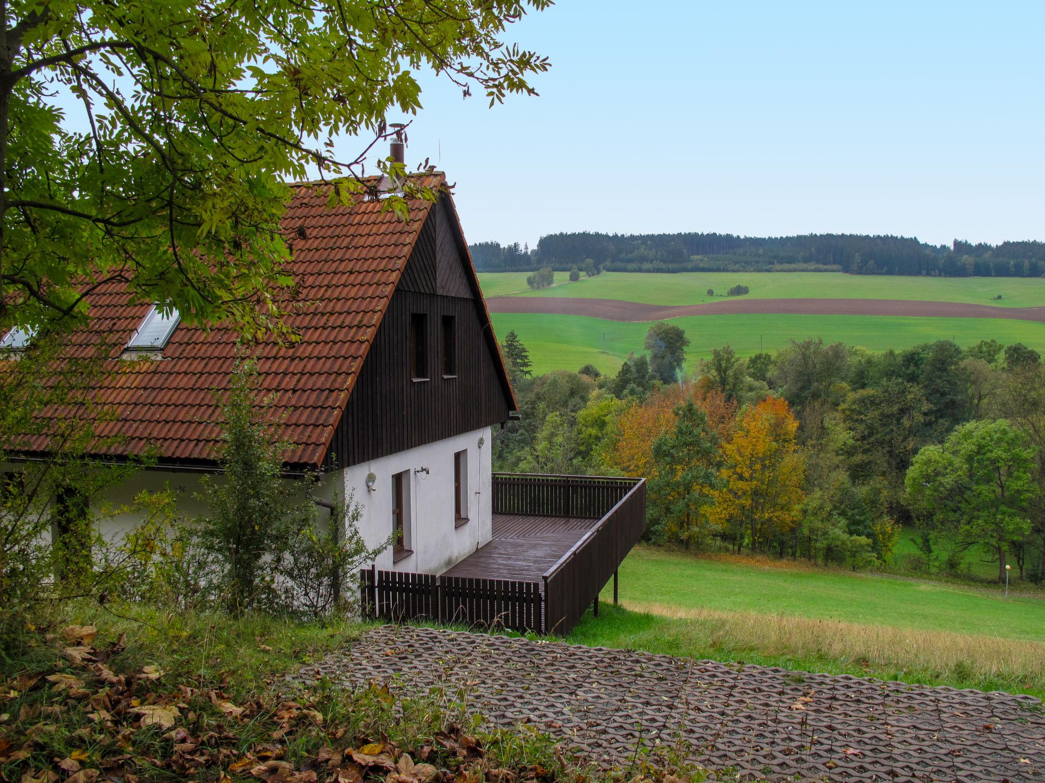
{"type": "MultiPolygon", "coordinates": [[[[392,476],[407,472],[404,504],[408,508],[407,547],[412,553],[393,562],[389,547],[377,559],[377,567],[386,570],[441,573],[471,554],[490,540],[490,429],[426,444],[370,462],[333,471],[322,477],[314,497],[331,500],[335,493],[353,495],[363,506],[358,520],[359,532],[368,546],[378,546],[392,535],[392,476]],[[479,446],[480,438],[484,445],[479,446]],[[454,454],[467,453],[465,484],[468,521],[457,524],[454,514],[454,454]],[[428,472],[419,472],[427,468],[428,472]],[[374,489],[367,490],[367,474],[376,477],[374,489]]],[[[18,466],[3,466],[18,470],[18,466]]],[[[160,492],[169,488],[176,493],[178,516],[193,518],[206,513],[206,505],[195,496],[201,492],[202,473],[191,471],[144,470],[134,474],[118,487],[112,488],[102,504],[93,507],[100,519],[102,537],[110,542],[120,540],[141,517],[133,513],[113,514],[127,505],[143,490],[160,492]]],[[[220,481],[219,475],[214,480],[220,481]]],[[[328,518],[325,508],[319,509],[320,520],[328,518]]]]}

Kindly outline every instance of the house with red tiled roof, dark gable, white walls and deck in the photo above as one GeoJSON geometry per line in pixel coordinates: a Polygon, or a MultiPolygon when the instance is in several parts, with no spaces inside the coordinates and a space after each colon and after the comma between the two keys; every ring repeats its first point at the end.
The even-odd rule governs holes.
{"type": "MultiPolygon", "coordinates": [[[[443,175],[425,184],[442,186],[443,175]]],[[[452,197],[412,203],[402,222],[379,201],[329,209],[322,193],[301,186],[283,229],[303,305],[286,323],[300,342],[273,340],[252,353],[288,444],[286,475],[321,474],[321,502],[352,495],[368,545],[394,537],[371,578],[386,613],[398,607],[401,615],[399,599],[410,593],[387,587],[388,574],[426,579],[433,590],[446,574],[514,579],[536,586],[526,588],[531,603],[534,591],[543,600],[545,571],[641,482],[491,473],[491,428],[516,416],[517,404],[452,197]]],[[[157,456],[112,499],[169,485],[183,514],[199,513],[199,478],[218,470],[215,390],[228,387],[236,335],[127,304],[117,286],[94,296],[92,316],[90,329],[116,339],[113,359],[121,361],[102,392],[115,417],[99,433],[120,436],[123,454],[147,448],[157,456]]],[[[28,338],[3,337],[13,348],[28,338]]],[[[625,536],[604,531],[619,541],[591,571],[590,579],[602,575],[600,588],[641,533],[636,508],[625,536]]],[[[116,519],[112,531],[136,521],[116,519]]],[[[597,595],[588,587],[576,600],[590,603],[593,589],[597,595]]],[[[533,616],[524,624],[533,626],[533,616]]]]}

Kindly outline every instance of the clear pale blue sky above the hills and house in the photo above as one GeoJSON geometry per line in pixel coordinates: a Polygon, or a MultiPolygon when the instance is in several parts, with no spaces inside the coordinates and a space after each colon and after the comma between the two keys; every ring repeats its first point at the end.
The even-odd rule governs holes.
{"type": "Polygon", "coordinates": [[[561,0],[511,35],[552,60],[540,97],[426,78],[410,132],[469,241],[1045,239],[1041,0],[561,0]]]}

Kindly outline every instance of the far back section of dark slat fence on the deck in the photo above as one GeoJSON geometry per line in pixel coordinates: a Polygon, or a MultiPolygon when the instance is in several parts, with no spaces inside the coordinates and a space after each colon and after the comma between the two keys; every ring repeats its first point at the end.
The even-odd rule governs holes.
{"type": "Polygon", "coordinates": [[[635,485],[633,478],[493,474],[493,513],[601,519],[635,485]]]}

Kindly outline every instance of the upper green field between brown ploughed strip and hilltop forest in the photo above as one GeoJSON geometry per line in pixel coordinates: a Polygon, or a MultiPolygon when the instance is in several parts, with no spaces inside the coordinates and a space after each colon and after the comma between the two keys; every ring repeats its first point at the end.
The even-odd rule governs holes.
{"type": "Polygon", "coordinates": [[[745,299],[892,299],[930,302],[965,302],[1000,307],[1045,305],[1045,278],[918,278],[896,275],[843,275],[841,272],[661,272],[606,271],[595,278],[568,283],[566,272],[556,272],[555,285],[531,291],[529,272],[482,272],[483,293],[500,296],[584,296],[617,299],[651,305],[694,305],[722,299],[707,295],[712,288],[725,293],[734,285],[746,285],[745,299]],[[1000,300],[994,296],[1001,295],[1000,300]]]}

